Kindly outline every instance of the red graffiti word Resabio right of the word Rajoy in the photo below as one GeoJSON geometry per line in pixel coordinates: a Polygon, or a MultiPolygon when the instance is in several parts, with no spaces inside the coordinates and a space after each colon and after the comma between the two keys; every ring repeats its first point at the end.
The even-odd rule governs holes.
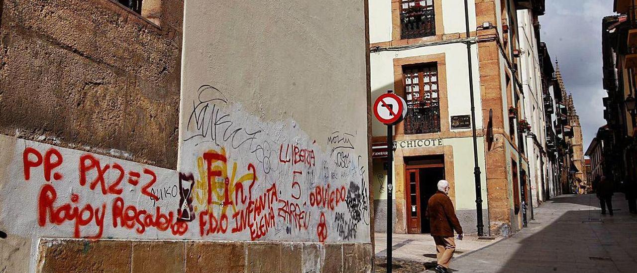
{"type": "Polygon", "coordinates": [[[113,228],[118,226],[144,233],[147,228],[154,227],[163,232],[168,229],[173,235],[183,235],[188,231],[188,223],[179,221],[171,211],[166,215],[159,207],[155,207],[155,215],[145,209],[137,209],[134,205],[125,205],[124,199],[117,196],[113,202],[113,228]]]}

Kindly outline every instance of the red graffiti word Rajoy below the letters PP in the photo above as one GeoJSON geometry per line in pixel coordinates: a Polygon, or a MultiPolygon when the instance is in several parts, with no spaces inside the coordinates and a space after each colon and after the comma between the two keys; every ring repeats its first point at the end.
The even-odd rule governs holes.
{"type": "Polygon", "coordinates": [[[95,222],[95,225],[99,228],[94,236],[87,238],[97,239],[102,237],[104,232],[104,213],[106,211],[106,203],[102,204],[101,210],[99,207],[93,209],[90,204],[86,204],[80,209],[71,203],[76,204],[80,201],[78,195],[71,195],[71,203],[64,203],[59,207],[55,207],[55,200],[57,199],[57,193],[52,184],[44,184],[39,194],[38,202],[38,225],[47,225],[48,222],[54,225],[62,225],[65,221],[75,221],[75,238],[82,238],[80,234],[80,227],[89,225],[91,222],[95,222]]]}

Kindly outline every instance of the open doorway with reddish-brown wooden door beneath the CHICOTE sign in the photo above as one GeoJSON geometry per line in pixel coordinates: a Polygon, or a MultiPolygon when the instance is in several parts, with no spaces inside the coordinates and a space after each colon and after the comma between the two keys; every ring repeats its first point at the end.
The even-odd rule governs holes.
{"type": "Polygon", "coordinates": [[[438,191],[438,181],[445,179],[443,156],[427,156],[405,160],[406,214],[408,233],[429,233],[426,217],[429,198],[438,191]]]}

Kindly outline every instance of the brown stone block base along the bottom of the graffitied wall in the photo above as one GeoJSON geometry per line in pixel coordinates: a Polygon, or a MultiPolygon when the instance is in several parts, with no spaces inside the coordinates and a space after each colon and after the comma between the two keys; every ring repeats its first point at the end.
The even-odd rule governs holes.
{"type": "Polygon", "coordinates": [[[371,243],[41,239],[38,272],[371,272],[371,243]]]}

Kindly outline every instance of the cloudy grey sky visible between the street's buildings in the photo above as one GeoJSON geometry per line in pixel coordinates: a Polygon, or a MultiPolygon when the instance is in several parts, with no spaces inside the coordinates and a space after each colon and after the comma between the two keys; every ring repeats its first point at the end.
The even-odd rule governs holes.
{"type": "Polygon", "coordinates": [[[601,98],[601,19],[613,15],[613,0],[547,0],[540,17],[541,40],[552,60],[559,61],[566,91],[573,94],[584,138],[589,147],[599,126],[606,124],[601,98]]]}

